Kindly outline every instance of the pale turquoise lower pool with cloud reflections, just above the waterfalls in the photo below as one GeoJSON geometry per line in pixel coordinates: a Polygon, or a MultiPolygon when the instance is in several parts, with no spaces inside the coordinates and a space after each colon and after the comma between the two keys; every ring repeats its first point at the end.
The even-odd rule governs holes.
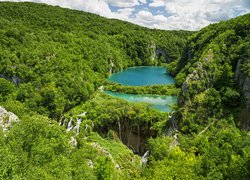
{"type": "Polygon", "coordinates": [[[129,102],[148,103],[152,108],[162,112],[171,112],[171,106],[177,101],[177,96],[121,94],[111,91],[105,91],[105,93],[113,97],[122,98],[129,102]]]}

